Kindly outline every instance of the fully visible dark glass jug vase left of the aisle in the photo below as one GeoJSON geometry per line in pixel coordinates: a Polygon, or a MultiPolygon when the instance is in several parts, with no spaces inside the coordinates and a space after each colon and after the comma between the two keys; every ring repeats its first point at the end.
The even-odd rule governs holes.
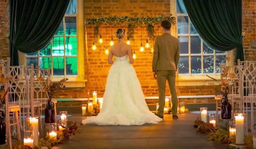
{"type": "Polygon", "coordinates": [[[48,100],[47,106],[44,109],[45,123],[54,123],[55,122],[55,112],[54,112],[54,103],[48,100]]]}

